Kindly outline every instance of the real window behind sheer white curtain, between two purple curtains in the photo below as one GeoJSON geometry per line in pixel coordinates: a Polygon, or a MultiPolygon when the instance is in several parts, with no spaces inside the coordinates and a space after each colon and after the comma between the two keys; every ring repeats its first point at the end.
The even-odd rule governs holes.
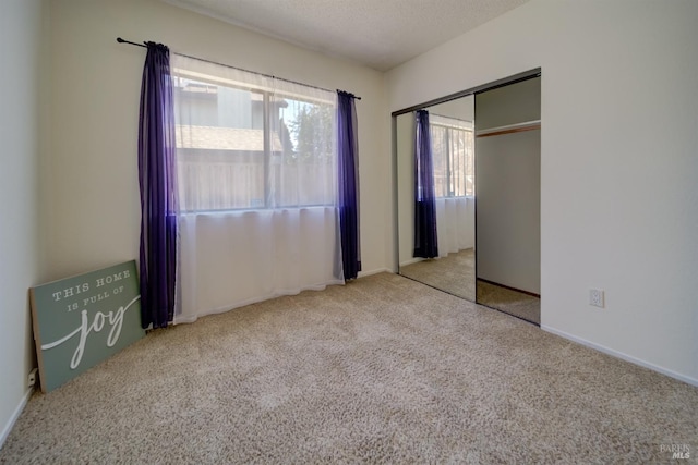
{"type": "Polygon", "coordinates": [[[335,204],[334,93],[176,57],[182,211],[335,204]]]}

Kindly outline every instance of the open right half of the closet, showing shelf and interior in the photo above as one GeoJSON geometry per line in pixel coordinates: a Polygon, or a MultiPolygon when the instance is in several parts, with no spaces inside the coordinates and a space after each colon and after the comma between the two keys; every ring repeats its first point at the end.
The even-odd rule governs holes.
{"type": "Polygon", "coordinates": [[[476,95],[477,302],[540,325],[540,77],[476,95]]]}

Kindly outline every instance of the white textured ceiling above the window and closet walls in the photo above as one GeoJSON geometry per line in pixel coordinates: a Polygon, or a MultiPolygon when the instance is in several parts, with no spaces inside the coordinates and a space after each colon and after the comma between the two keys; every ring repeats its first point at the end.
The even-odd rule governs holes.
{"type": "Polygon", "coordinates": [[[164,0],[386,71],[529,0],[164,0]]]}

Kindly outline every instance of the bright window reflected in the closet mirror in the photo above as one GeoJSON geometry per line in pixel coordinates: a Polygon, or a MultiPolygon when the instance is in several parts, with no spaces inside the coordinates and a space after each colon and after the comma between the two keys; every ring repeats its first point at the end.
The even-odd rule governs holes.
{"type": "Polygon", "coordinates": [[[474,195],[474,137],[471,121],[430,115],[436,197],[474,195]]]}

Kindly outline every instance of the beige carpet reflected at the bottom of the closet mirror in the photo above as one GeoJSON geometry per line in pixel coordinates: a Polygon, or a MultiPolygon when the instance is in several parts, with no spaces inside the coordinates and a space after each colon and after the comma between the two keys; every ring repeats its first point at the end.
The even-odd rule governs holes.
{"type": "Polygon", "coordinates": [[[402,266],[400,274],[458,297],[476,301],[476,257],[472,248],[402,266]]]}

